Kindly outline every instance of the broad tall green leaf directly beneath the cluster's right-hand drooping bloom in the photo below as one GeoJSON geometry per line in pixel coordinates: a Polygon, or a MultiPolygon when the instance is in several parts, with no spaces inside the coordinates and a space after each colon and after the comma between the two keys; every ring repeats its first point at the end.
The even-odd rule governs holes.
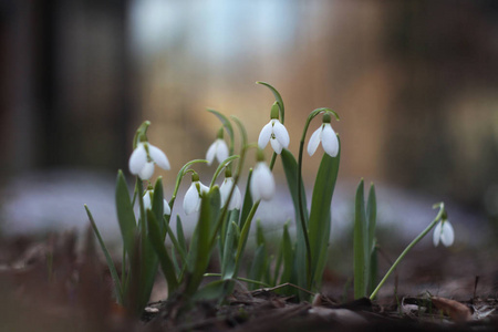
{"type": "Polygon", "coordinates": [[[315,288],[320,288],[323,274],[324,262],[320,261],[326,260],[328,253],[331,229],[331,204],[341,160],[341,141],[339,141],[339,146],[336,157],[323,154],[314,181],[313,197],[311,198],[308,235],[311,247],[311,282],[315,288]]]}

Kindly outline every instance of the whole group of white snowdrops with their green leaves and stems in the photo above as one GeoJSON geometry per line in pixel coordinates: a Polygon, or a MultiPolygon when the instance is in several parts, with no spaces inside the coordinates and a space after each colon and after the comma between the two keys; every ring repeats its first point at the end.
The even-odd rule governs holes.
{"type": "MultiPolygon", "coordinates": [[[[288,151],[289,133],[284,126],[284,104],[280,93],[270,84],[274,95],[270,122],[259,135],[258,143],[249,143],[246,128],[235,116],[208,110],[221,122],[216,141],[209,146],[206,159],[195,159],[180,168],[173,196],[164,197],[163,181],[158,177],[151,181],[155,166],[169,169],[165,153],[147,139],[149,122],[137,129],[129,157],[129,172],[136,176],[135,189],[131,195],[123,173],[116,181],[116,210],[123,239],[123,262],[117,271],[102,239],[95,220],[85,206],[91,225],[105,255],[114,282],[116,301],[131,311],[141,313],[148,302],[157,270],[166,278],[168,297],[181,297],[186,303],[199,299],[224,299],[241,283],[249,289],[273,287],[279,292],[294,295],[297,300],[310,299],[320,291],[322,274],[328,259],[331,229],[331,201],[340,165],[341,143],[331,126],[339,115],[330,108],[317,108],[308,116],[300,141],[298,159],[288,151]],[[307,152],[313,155],[321,144],[324,151],[317,173],[311,206],[307,206],[301,169],[308,128],[314,117],[322,115],[321,125],[312,133],[307,152]],[[237,128],[240,147],[236,153],[237,128]],[[228,135],[228,144],[225,141],[228,135]],[[269,163],[263,149],[270,143],[273,154],[269,163]],[[249,151],[256,152],[256,165],[247,175],[247,187],[242,195],[238,183],[249,151]],[[251,250],[249,266],[245,261],[245,249],[252,226],[255,212],[261,200],[270,200],[276,191],[272,169],[280,158],[288,189],[294,207],[294,220],[282,227],[278,252],[270,252],[264,232],[256,225],[256,250],[251,250]],[[207,186],[193,169],[198,163],[215,164],[218,167],[207,186]],[[219,175],[225,178],[220,186],[219,175]],[[184,234],[179,216],[172,221],[180,184],[187,175],[191,183],[183,201],[185,214],[197,214],[197,222],[189,239],[184,234]],[[137,208],[136,208],[137,207],[137,208]],[[137,212],[135,212],[137,211],[137,212]],[[174,229],[170,224],[176,222],[174,229]],[[293,222],[294,231],[290,231],[293,222]],[[169,241],[166,241],[168,238],[169,241]],[[168,245],[166,245],[168,243],[168,245]],[[214,252],[218,253],[220,271],[208,271],[214,252]],[[247,268],[247,276],[240,270],[247,268]],[[209,282],[207,282],[210,280],[209,282]]],[[[434,243],[445,246],[454,241],[453,228],[447,221],[444,204],[435,205],[438,214],[427,228],[402,252],[385,277],[377,282],[376,268],[376,198],[372,185],[365,204],[363,179],[356,190],[354,211],[354,295],[373,299],[403,257],[433,228],[434,243]]]]}

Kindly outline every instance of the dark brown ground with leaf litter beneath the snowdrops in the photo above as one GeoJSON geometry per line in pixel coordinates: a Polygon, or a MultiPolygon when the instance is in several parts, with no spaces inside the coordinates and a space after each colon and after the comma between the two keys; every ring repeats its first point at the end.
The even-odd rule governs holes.
{"type": "Polygon", "coordinates": [[[329,270],[312,303],[240,284],[222,304],[183,310],[173,297],[138,319],[114,304],[92,241],[74,234],[2,239],[0,331],[498,331],[492,246],[414,250],[374,301],[353,301],[347,277],[329,270]]]}

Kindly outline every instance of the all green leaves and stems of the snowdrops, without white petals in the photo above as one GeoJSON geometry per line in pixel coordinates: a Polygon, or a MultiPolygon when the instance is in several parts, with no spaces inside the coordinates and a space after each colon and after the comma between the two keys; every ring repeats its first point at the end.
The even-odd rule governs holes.
{"type": "MultiPolygon", "coordinates": [[[[284,105],[280,93],[268,83],[257,83],[267,86],[272,92],[276,98],[273,113],[277,113],[276,107],[278,105],[280,121],[283,124],[284,105]]],[[[310,294],[320,291],[323,271],[328,262],[332,220],[331,204],[339,174],[341,142],[340,139],[336,141],[339,142],[339,154],[334,155],[335,149],[330,149],[330,142],[332,141],[328,141],[329,149],[326,151],[332,156],[326,153],[322,156],[309,209],[305,187],[302,180],[303,148],[309,125],[315,116],[325,114],[323,129],[325,125],[330,125],[332,115],[336,120],[339,120],[339,115],[331,108],[325,107],[312,111],[304,124],[298,159],[286,148],[281,152],[280,158],[294,207],[293,222],[295,222],[295,232],[290,231],[291,221],[288,221],[283,225],[280,238],[276,240],[264,232],[262,225],[258,220],[256,247],[251,255],[252,260],[248,267],[248,278],[245,278],[239,276],[239,272],[242,266],[248,266],[245,262],[245,252],[251,234],[252,219],[260,205],[259,200],[252,200],[250,193],[251,169],[246,175],[248,180],[242,205],[229,210],[228,203],[234,196],[238,180],[242,175],[247,152],[255,147],[256,144],[248,142],[246,128],[240,120],[235,116],[227,117],[215,110],[208,110],[208,112],[221,122],[222,128],[220,128],[220,133],[222,131],[228,133],[229,156],[217,167],[211,177],[209,189],[200,190],[200,187],[198,187],[200,210],[189,241],[185,236],[183,221],[179,216],[176,216],[176,232],[174,230],[175,227],[170,227],[169,210],[174,209],[184,177],[193,173],[193,177],[199,178],[197,173],[190,167],[199,163],[207,163],[205,159],[190,160],[180,168],[169,203],[165,200],[160,177],[154,183],[154,187],[151,187],[152,183],[137,176],[135,189],[131,197],[123,172],[118,170],[115,201],[117,221],[123,240],[123,268],[121,276],[115,268],[90,209],[85,206],[91,226],[104,252],[114,282],[116,301],[126,307],[129,312],[139,314],[145,308],[159,269],[166,279],[168,295],[178,293],[184,297],[185,303],[200,299],[219,299],[222,301],[226,295],[234,291],[236,280],[247,282],[250,290],[259,287],[274,287],[280,293],[297,295],[299,300],[310,299],[310,294]],[[240,148],[237,155],[235,154],[236,133],[232,123],[240,134],[240,148]],[[228,197],[224,196],[226,204],[221,206],[220,189],[216,181],[226,168],[229,170],[228,174],[232,175],[235,184],[229,190],[228,197]],[[152,190],[147,193],[153,193],[151,205],[144,200],[145,187],[152,190]],[[168,206],[165,204],[168,204],[168,206]],[[168,211],[165,210],[165,207],[168,208],[168,211]],[[272,243],[274,245],[272,246],[272,243]],[[277,251],[276,255],[272,255],[273,249],[277,251]],[[208,271],[211,255],[215,250],[219,256],[219,272],[208,271]],[[201,286],[207,277],[216,279],[201,286]]],[[[149,125],[149,122],[144,122],[135,134],[133,146],[137,151],[143,146],[138,142],[147,142],[146,132],[149,125]]],[[[329,129],[328,133],[332,133],[332,131],[329,129]]],[[[221,135],[218,137],[221,137],[221,135]]],[[[335,137],[333,138],[333,142],[335,142],[335,137]]],[[[154,163],[152,153],[157,153],[157,149],[155,147],[155,151],[146,151],[146,159],[145,157],[138,158],[141,160],[135,168],[141,168],[141,163],[154,163]]],[[[135,156],[139,154],[135,154],[135,156]]],[[[273,168],[278,156],[277,153],[273,153],[269,166],[270,169],[273,168]]],[[[226,195],[226,191],[224,191],[224,195],[226,195]]],[[[190,197],[197,199],[195,195],[190,197]]],[[[198,201],[194,200],[194,203],[198,201]]],[[[195,205],[190,206],[194,207],[195,205]]],[[[434,227],[437,224],[437,218],[440,219],[442,216],[444,216],[444,207],[442,207],[438,217],[429,227],[434,227]]],[[[374,298],[380,287],[392,272],[390,270],[374,289],[373,286],[376,283],[377,273],[375,226],[375,188],[373,185],[371,186],[365,207],[362,180],[355,197],[353,240],[355,298],[365,297],[367,292],[372,292],[371,298],[374,298]]],[[[425,234],[427,234],[427,229],[425,234]]]]}

